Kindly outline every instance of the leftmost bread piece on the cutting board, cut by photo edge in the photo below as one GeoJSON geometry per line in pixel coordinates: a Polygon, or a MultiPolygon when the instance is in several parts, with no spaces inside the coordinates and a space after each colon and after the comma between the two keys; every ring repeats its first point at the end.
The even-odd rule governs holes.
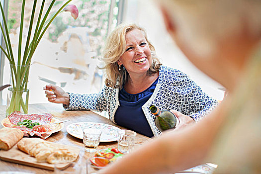
{"type": "Polygon", "coordinates": [[[0,129],[0,149],[9,150],[23,138],[20,129],[4,127],[0,129]]]}

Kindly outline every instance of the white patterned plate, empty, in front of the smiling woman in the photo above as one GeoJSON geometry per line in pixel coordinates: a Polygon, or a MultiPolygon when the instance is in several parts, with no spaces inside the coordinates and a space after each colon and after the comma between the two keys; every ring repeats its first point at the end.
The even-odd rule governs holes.
{"type": "Polygon", "coordinates": [[[93,128],[95,127],[96,129],[102,130],[102,133],[100,135],[100,142],[112,142],[112,141],[117,141],[117,130],[120,130],[120,128],[117,128],[115,126],[109,125],[109,124],[104,124],[104,123],[92,123],[92,122],[80,122],[80,123],[73,123],[70,124],[66,127],[66,131],[76,137],[83,139],[84,138],[84,133],[83,130],[84,128],[93,128]]]}

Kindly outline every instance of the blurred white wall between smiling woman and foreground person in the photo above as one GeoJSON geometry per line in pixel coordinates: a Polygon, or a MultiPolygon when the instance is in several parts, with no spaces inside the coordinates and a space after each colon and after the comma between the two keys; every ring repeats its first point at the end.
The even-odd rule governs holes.
{"type": "Polygon", "coordinates": [[[166,31],[159,8],[153,0],[126,0],[123,22],[136,23],[147,30],[148,38],[163,60],[163,64],[178,69],[195,81],[203,91],[215,99],[222,100],[224,91],[182,54],[166,31]]]}

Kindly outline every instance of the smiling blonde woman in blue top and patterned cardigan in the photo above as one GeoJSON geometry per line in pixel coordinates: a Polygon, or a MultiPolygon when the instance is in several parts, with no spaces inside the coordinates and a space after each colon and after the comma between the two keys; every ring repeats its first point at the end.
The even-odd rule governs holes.
{"type": "Polygon", "coordinates": [[[217,105],[185,74],[162,66],[145,30],[135,24],[117,26],[104,50],[107,78],[99,93],[66,93],[47,85],[48,100],[63,103],[66,110],[108,111],[112,122],[148,137],[161,134],[149,111],[152,104],[175,110],[180,121],[176,129],[200,120],[217,105]]]}

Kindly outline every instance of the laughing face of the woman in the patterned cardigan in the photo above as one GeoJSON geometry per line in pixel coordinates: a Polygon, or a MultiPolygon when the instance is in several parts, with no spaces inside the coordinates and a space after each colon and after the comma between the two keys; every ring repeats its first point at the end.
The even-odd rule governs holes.
{"type": "Polygon", "coordinates": [[[151,50],[143,33],[133,29],[126,34],[126,48],[118,61],[130,75],[147,73],[151,64],[151,50]]]}

